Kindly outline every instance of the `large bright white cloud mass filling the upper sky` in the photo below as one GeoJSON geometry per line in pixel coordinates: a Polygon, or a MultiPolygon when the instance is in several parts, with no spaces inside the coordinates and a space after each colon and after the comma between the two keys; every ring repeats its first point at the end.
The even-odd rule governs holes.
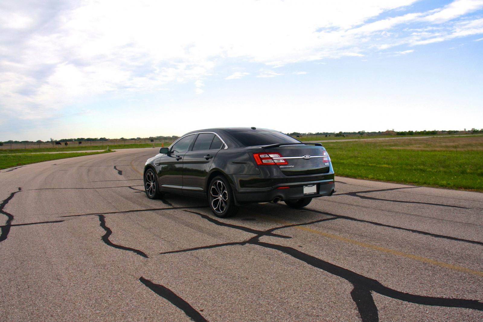
{"type": "MultiPolygon", "coordinates": [[[[482,19],[453,21],[483,0],[404,13],[415,1],[9,1],[0,9],[0,112],[43,118],[78,99],[185,82],[200,94],[202,80],[224,62],[254,70],[231,80],[260,64],[362,57],[483,34],[482,19]],[[377,19],[388,12],[394,16],[377,19]],[[401,29],[412,23],[424,30],[401,29]]],[[[279,75],[261,70],[256,77],[279,75]]]]}

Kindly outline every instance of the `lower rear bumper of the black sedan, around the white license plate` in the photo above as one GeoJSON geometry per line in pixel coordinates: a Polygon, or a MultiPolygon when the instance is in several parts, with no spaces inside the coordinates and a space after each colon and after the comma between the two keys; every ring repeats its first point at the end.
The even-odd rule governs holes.
{"type": "Polygon", "coordinates": [[[335,183],[333,179],[330,179],[318,182],[279,185],[268,191],[235,192],[235,198],[239,203],[268,202],[274,200],[275,198],[279,198],[279,201],[283,201],[331,196],[334,191],[335,183]],[[316,192],[313,194],[304,194],[304,186],[312,184],[316,185],[316,192]],[[282,188],[287,186],[288,188],[282,188]]]}

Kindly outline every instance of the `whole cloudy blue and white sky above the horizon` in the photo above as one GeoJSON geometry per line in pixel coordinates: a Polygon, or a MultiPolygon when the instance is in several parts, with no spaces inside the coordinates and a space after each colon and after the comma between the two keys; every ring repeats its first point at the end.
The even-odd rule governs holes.
{"type": "Polygon", "coordinates": [[[483,0],[0,2],[0,140],[483,127],[483,0]]]}

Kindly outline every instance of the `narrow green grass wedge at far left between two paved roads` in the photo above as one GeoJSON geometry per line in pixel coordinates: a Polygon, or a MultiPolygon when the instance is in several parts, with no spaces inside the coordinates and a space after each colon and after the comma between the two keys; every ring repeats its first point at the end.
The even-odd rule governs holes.
{"type": "Polygon", "coordinates": [[[102,152],[77,152],[77,153],[39,153],[39,154],[0,154],[0,169],[14,168],[18,166],[24,166],[31,163],[38,163],[43,161],[51,161],[57,159],[72,158],[75,156],[92,155],[109,153],[108,151],[102,152]]]}

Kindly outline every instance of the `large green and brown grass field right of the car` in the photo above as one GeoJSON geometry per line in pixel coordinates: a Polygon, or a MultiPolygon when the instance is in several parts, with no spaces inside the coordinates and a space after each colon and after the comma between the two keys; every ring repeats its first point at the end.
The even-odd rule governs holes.
{"type": "Polygon", "coordinates": [[[326,142],[338,176],[483,191],[483,137],[326,142]]]}

